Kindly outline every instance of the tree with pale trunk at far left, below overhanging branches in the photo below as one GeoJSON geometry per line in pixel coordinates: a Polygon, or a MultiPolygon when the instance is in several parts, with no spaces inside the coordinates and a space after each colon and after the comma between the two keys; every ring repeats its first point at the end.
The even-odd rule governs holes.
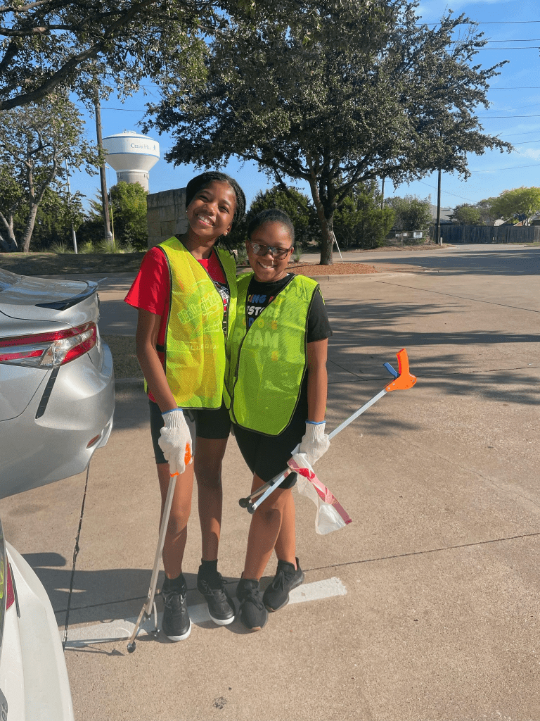
{"type": "Polygon", "coordinates": [[[45,191],[65,192],[66,159],[71,167],[96,172],[96,149],[84,139],[84,121],[66,96],[0,112],[1,249],[28,252],[45,191]],[[24,205],[27,217],[17,239],[14,217],[24,205]]]}

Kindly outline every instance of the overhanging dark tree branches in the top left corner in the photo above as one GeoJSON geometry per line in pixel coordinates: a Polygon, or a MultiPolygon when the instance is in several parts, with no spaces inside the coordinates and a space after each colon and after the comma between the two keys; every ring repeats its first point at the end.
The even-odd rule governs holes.
{"type": "Polygon", "coordinates": [[[129,95],[145,76],[202,72],[204,0],[14,0],[0,6],[0,110],[39,102],[60,88],[94,102],[94,90],[129,95]],[[108,78],[108,82],[104,82],[108,78]],[[100,79],[98,81],[98,79],[100,79]]]}

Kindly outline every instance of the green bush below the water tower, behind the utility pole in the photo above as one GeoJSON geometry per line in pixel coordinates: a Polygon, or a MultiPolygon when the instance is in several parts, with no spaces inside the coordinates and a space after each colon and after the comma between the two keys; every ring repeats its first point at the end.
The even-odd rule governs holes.
{"type": "MultiPolygon", "coordinates": [[[[146,226],[146,195],[148,193],[140,183],[127,183],[121,180],[110,189],[109,208],[112,211],[114,227],[114,247],[104,244],[104,252],[130,252],[132,249],[145,251],[148,248],[148,230],[146,226]]],[[[96,195],[90,201],[89,211],[78,231],[81,245],[99,244],[103,239],[103,206],[96,195]]]]}

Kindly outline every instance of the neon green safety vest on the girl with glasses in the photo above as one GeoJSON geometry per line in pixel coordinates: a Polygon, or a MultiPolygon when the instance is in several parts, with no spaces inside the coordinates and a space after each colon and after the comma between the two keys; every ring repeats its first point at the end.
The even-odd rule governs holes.
{"type": "Polygon", "coordinates": [[[307,317],[318,283],[295,275],[248,329],[253,273],[238,278],[238,312],[227,342],[223,397],[233,423],[264,435],[289,425],[307,366],[307,317]]]}

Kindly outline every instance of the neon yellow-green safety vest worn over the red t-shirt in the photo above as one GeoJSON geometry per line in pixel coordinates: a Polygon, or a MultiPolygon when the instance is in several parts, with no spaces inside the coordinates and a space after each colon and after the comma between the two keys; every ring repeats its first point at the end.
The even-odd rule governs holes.
{"type": "MultiPolygon", "coordinates": [[[[170,277],[165,338],[165,375],[181,408],[219,408],[225,374],[223,301],[212,278],[177,239],[160,243],[170,277]]],[[[227,250],[215,248],[230,301],[227,329],[236,315],[236,263],[227,250]]]]}

